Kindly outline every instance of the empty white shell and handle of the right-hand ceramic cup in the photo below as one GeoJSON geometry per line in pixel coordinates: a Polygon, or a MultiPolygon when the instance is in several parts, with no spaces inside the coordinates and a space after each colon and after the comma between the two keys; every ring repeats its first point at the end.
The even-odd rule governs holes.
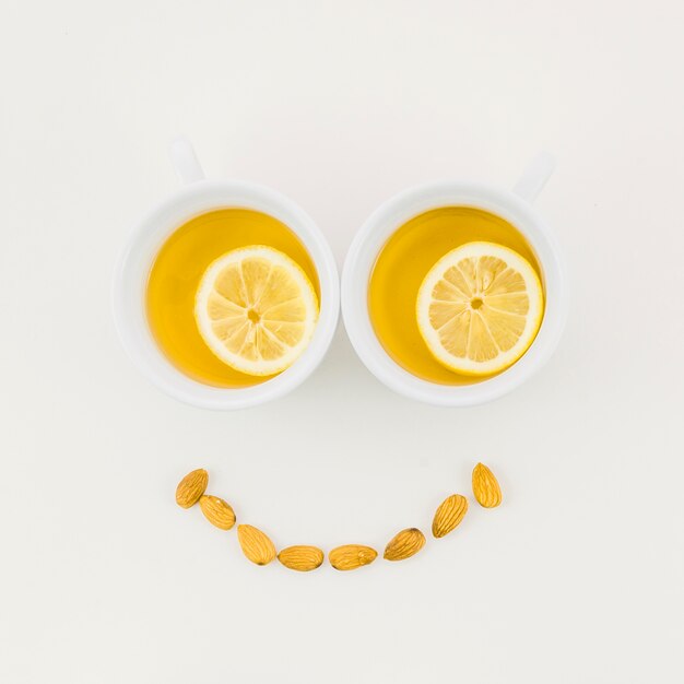
{"type": "Polygon", "coordinates": [[[443,406],[470,406],[497,399],[530,378],[555,350],[568,311],[565,269],[553,235],[532,202],[553,173],[547,153],[538,155],[512,191],[473,182],[432,182],[411,188],[379,207],[350,247],[342,272],[342,315],[346,332],[366,367],[394,391],[443,406]],[[406,221],[439,207],[473,207],[505,219],[532,246],[546,294],[542,326],[524,355],[502,374],[472,385],[447,386],[418,378],[397,364],[375,334],[368,311],[368,282],[378,253],[406,221]]]}

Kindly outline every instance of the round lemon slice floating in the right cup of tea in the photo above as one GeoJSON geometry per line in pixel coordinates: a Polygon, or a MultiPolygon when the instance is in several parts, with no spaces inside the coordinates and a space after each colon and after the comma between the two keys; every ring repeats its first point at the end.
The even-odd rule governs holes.
{"type": "Polygon", "coordinates": [[[416,303],[418,329],[447,368],[491,375],[532,344],[543,299],[534,269],[520,255],[494,243],[468,243],[425,276],[416,303]]]}

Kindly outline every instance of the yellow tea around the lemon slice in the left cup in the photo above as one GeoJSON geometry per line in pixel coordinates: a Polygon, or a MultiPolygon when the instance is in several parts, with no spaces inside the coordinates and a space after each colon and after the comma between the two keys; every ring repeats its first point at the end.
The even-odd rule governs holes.
{"type": "Polygon", "coordinates": [[[152,334],[176,368],[205,385],[249,387],[273,377],[241,373],[219,358],[200,334],[194,310],[209,267],[226,252],[255,245],[292,259],[320,300],[316,267],[299,238],[273,216],[249,209],[220,209],[191,219],[170,235],[152,264],[146,291],[152,334]]]}

